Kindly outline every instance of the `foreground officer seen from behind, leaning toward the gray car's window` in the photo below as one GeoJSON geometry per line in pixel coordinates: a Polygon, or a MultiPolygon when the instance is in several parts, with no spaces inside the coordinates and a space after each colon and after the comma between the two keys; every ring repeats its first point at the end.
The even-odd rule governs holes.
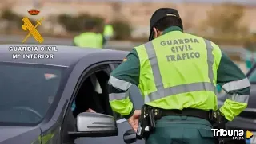
{"type": "Polygon", "coordinates": [[[229,94],[218,110],[226,122],[247,107],[250,95],[250,83],[238,66],[214,42],[183,32],[178,11],[169,8],[154,12],[150,41],[126,56],[109,84],[112,109],[134,130],[140,111],[126,95],[132,84],[146,106],[162,111],[147,144],[214,144],[209,111],[217,111],[216,84],[229,94]]]}

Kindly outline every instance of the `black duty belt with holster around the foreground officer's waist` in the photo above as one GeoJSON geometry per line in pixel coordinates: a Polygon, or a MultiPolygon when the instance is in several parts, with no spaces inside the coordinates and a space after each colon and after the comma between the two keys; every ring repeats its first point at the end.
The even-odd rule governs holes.
{"type": "MultiPolygon", "coordinates": [[[[140,119],[138,120],[138,130],[136,137],[138,139],[148,138],[150,133],[155,130],[156,120],[161,119],[163,116],[179,115],[179,116],[191,116],[198,117],[200,119],[206,119],[214,128],[225,129],[227,120],[222,116],[222,113],[217,110],[204,111],[196,108],[184,108],[182,110],[172,109],[165,110],[157,107],[150,107],[143,105],[140,119]]],[[[217,143],[223,144],[223,138],[218,138],[217,143]]]]}

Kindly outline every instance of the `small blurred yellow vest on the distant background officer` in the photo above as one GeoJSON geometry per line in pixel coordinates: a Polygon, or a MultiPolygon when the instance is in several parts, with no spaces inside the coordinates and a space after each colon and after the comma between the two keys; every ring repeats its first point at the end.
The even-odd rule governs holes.
{"type": "Polygon", "coordinates": [[[100,33],[82,33],[74,37],[74,45],[78,47],[102,48],[103,37],[100,33]]]}

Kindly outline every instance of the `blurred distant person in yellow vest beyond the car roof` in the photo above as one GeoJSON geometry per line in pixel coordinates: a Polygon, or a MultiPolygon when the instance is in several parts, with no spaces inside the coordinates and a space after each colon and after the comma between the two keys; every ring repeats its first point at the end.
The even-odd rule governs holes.
{"type": "Polygon", "coordinates": [[[74,45],[78,47],[102,49],[105,42],[95,21],[85,21],[84,32],[74,37],[74,45]]]}

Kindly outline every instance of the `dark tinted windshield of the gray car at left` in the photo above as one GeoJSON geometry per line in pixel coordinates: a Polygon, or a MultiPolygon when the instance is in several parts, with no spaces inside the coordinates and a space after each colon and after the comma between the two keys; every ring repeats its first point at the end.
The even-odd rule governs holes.
{"type": "Polygon", "coordinates": [[[59,67],[1,63],[0,125],[40,123],[57,95],[61,76],[59,67]]]}

